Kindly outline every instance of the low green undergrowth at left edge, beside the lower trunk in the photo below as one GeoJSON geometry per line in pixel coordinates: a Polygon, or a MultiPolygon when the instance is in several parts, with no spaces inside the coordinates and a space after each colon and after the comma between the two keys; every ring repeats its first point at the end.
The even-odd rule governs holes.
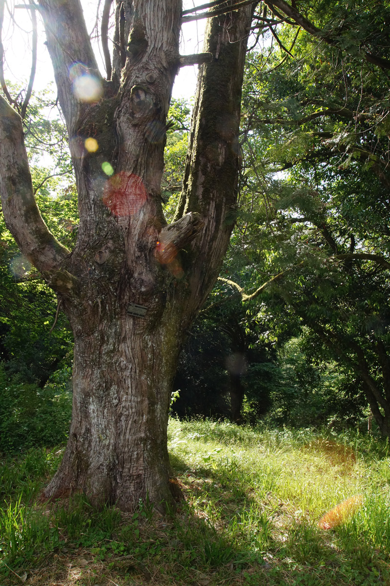
{"type": "Polygon", "coordinates": [[[9,379],[0,364],[0,453],[66,440],[71,415],[69,367],[43,387],[9,379]]]}

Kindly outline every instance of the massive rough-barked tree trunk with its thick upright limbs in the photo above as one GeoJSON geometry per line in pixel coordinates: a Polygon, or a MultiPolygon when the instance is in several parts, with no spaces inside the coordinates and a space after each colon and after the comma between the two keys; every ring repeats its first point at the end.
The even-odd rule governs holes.
{"type": "Polygon", "coordinates": [[[74,250],[56,243],[31,203],[21,122],[4,101],[0,160],[7,135],[13,154],[1,166],[0,189],[8,226],[25,254],[33,241],[29,258],[59,295],[74,333],[70,437],[45,496],[81,490],[123,510],[147,496],[159,506],[177,495],[167,419],[180,347],[217,278],[234,222],[252,6],[208,24],[204,52],[213,61],[201,67],[182,204],[167,226],[160,181],[181,2],[117,2],[110,82],[97,71],[80,2],[39,4],[78,189],[74,250]],[[83,96],[84,83],[95,84],[92,96],[83,96]],[[88,152],[87,138],[97,151],[88,152]],[[24,170],[16,177],[14,164],[24,170]],[[129,314],[129,305],[143,311],[129,314]]]}

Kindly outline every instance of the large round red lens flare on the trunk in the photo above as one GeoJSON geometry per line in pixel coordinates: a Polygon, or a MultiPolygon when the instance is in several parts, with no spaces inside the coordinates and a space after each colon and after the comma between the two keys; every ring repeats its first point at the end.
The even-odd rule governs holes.
{"type": "Polygon", "coordinates": [[[141,177],[121,171],[105,183],[103,203],[114,216],[132,216],[141,209],[147,196],[141,177]]]}

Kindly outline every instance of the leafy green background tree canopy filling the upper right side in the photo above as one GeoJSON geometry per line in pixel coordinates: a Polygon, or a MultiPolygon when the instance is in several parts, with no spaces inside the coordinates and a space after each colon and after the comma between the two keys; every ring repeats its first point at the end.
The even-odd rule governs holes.
{"type": "Polygon", "coordinates": [[[278,49],[248,64],[237,244],[255,291],[243,297],[268,295],[309,328],[389,435],[389,6],[273,6],[303,30],[279,26],[278,49]]]}

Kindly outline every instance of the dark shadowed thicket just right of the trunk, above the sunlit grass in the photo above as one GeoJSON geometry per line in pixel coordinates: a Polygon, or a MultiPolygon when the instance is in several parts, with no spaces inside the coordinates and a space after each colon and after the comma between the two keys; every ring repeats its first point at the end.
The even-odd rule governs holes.
{"type": "Polygon", "coordinates": [[[218,284],[180,355],[174,383],[180,396],[172,411],[255,423],[269,408],[275,363],[275,348],[248,323],[239,296],[218,284]]]}

